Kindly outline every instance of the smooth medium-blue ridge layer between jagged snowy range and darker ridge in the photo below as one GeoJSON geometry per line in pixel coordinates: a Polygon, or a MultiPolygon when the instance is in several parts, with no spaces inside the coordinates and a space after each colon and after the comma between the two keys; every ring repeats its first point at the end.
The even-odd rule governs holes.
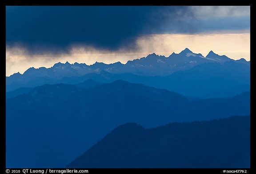
{"type": "Polygon", "coordinates": [[[204,63],[190,70],[172,73],[169,76],[155,77],[139,76],[131,73],[113,74],[107,71],[88,73],[79,77],[63,77],[55,80],[46,77],[33,77],[31,81],[26,81],[26,77],[19,76],[21,76],[18,78],[20,82],[13,81],[11,84],[7,82],[7,92],[8,89],[17,88],[18,86],[31,87],[44,85],[45,83],[78,84],[88,79],[100,83],[109,83],[121,79],[132,83],[141,83],[156,88],[168,89],[186,96],[201,96],[216,90],[231,89],[240,85],[250,85],[250,67],[233,61],[222,64],[204,63]]]}

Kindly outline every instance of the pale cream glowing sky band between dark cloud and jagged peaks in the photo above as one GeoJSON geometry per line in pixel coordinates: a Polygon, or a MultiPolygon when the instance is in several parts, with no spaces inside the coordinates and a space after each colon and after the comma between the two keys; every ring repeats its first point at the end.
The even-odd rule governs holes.
{"type": "Polygon", "coordinates": [[[30,67],[51,67],[56,62],[79,62],[91,65],[95,62],[126,63],[128,60],[145,57],[155,52],[169,56],[172,52],[179,53],[188,47],[195,53],[204,56],[210,50],[229,58],[250,60],[250,33],[203,33],[203,34],[165,34],[138,37],[136,50],[126,47],[118,50],[103,50],[92,46],[73,46],[64,53],[46,52],[45,54],[30,52],[28,48],[15,46],[6,47],[6,76],[23,73],[30,67]]]}

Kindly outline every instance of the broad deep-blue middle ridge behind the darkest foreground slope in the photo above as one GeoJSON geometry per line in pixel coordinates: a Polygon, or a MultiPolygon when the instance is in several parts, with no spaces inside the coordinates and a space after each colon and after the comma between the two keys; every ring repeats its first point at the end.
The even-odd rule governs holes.
{"type": "Polygon", "coordinates": [[[37,86],[6,99],[6,167],[64,167],[128,122],[152,128],[236,115],[250,115],[249,92],[189,101],[179,93],[122,80],[37,86]]]}

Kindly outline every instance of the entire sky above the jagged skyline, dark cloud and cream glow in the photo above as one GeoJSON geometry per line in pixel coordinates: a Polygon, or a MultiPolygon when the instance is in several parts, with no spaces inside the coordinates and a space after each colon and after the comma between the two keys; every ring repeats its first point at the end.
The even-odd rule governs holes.
{"type": "Polygon", "coordinates": [[[185,48],[250,60],[250,6],[6,6],[6,76],[185,48]]]}

